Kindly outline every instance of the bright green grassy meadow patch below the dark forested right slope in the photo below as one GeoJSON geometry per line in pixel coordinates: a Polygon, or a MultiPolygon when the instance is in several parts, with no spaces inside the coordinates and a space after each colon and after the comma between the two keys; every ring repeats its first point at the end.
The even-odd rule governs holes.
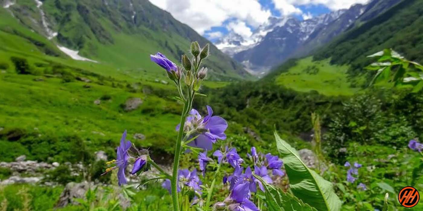
{"type": "Polygon", "coordinates": [[[299,92],[317,91],[323,95],[353,95],[359,88],[352,88],[346,71],[347,65],[331,65],[330,59],[313,61],[312,57],[298,60],[276,78],[276,83],[299,92]]]}

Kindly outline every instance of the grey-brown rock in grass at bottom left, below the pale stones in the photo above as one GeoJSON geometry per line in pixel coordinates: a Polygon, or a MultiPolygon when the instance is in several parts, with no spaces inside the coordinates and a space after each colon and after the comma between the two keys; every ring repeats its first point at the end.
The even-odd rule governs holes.
{"type": "Polygon", "coordinates": [[[85,198],[85,192],[87,192],[89,188],[94,189],[95,187],[92,183],[90,184],[87,181],[81,183],[70,182],[66,184],[55,207],[65,207],[68,204],[77,205],[78,203],[74,199],[85,198]]]}

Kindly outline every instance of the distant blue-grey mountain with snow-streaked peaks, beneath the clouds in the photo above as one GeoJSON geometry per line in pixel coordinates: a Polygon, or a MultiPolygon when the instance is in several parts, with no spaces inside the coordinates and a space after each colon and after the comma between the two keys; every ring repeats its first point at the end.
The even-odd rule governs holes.
{"type": "Polygon", "coordinates": [[[349,9],[333,11],[303,21],[294,17],[283,17],[279,18],[279,23],[282,24],[269,24],[270,28],[261,30],[266,33],[253,44],[246,46],[232,43],[229,49],[221,48],[220,43],[217,46],[241,62],[250,72],[262,74],[289,58],[304,57],[314,52],[341,33],[373,19],[399,1],[373,0],[367,5],[356,4],[349,9]]]}

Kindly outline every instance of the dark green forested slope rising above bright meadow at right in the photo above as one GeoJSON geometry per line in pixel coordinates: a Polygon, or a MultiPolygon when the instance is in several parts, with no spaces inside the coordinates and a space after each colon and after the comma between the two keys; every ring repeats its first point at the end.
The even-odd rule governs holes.
{"type": "MultiPolygon", "coordinates": [[[[423,62],[423,2],[403,0],[374,19],[358,24],[314,54],[314,60],[330,58],[332,64],[349,64],[349,73],[363,73],[366,56],[393,48],[411,61],[423,62]]],[[[369,77],[370,78],[370,77],[369,77]]]]}

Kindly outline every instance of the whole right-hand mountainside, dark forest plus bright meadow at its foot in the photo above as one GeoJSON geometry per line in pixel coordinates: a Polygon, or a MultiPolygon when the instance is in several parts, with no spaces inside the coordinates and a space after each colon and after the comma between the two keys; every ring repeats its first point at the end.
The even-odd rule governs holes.
{"type": "Polygon", "coordinates": [[[368,55],[393,49],[423,62],[423,1],[372,1],[345,32],[312,52],[275,67],[263,80],[301,92],[352,95],[367,88],[375,72],[368,55]]]}

